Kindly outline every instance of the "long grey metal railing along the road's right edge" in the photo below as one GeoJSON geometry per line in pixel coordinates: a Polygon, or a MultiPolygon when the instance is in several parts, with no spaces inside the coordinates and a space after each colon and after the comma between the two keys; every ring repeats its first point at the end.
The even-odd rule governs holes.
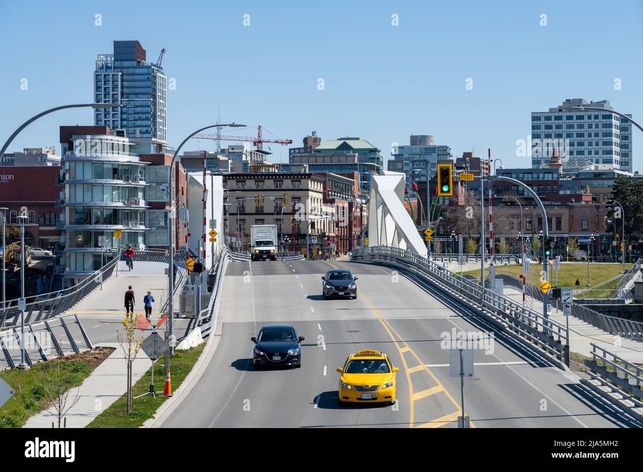
{"type": "Polygon", "coordinates": [[[499,295],[489,288],[483,289],[475,281],[460,277],[456,272],[408,250],[388,246],[363,247],[354,250],[351,258],[392,263],[430,279],[476,308],[482,306],[488,313],[502,319],[516,335],[569,363],[569,333],[565,326],[545,317],[543,313],[523,307],[521,302],[499,295]]]}

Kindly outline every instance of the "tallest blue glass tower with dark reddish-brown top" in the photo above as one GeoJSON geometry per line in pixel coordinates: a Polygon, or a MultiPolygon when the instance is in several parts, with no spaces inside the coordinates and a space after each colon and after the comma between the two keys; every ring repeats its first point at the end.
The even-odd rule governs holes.
{"type": "Polygon", "coordinates": [[[166,78],[163,67],[147,62],[140,42],[114,41],[114,53],[98,55],[94,99],[120,103],[120,109],[96,109],[94,124],[125,130],[131,139],[165,142],[166,78]]]}

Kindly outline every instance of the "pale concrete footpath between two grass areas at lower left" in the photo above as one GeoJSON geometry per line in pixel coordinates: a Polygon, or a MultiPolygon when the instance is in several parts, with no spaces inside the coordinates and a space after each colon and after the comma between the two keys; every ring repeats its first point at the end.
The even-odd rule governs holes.
{"type": "MultiPolygon", "coordinates": [[[[69,401],[73,401],[77,394],[80,395],[80,399],[65,415],[68,428],[84,428],[127,391],[127,367],[122,347],[116,343],[103,343],[102,346],[116,349],[96,367],[80,387],[71,390],[69,401]]],[[[150,359],[141,350],[132,365],[132,385],[147,372],[151,365],[150,359]]],[[[159,379],[159,382],[163,381],[164,379],[159,379]]],[[[156,379],[154,382],[156,383],[156,379]]],[[[28,419],[23,428],[51,428],[52,422],[57,427],[57,417],[43,411],[28,419]]]]}

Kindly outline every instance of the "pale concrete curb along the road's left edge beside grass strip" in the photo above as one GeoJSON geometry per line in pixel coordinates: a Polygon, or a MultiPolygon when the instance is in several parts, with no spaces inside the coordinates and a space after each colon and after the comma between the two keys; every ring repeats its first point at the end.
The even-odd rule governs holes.
{"type": "MultiPolygon", "coordinates": [[[[221,281],[221,291],[223,290],[225,281],[226,279],[224,277],[221,281]]],[[[192,371],[190,371],[185,380],[183,380],[181,386],[176,389],[174,395],[170,399],[164,401],[163,405],[159,406],[158,410],[156,410],[156,413],[154,414],[154,417],[145,421],[145,423],[143,423],[140,428],[160,428],[168,418],[168,416],[172,414],[172,412],[174,412],[174,410],[176,410],[179,405],[181,405],[181,402],[188,396],[192,389],[194,389],[198,381],[201,380],[206,367],[212,360],[212,357],[214,356],[214,353],[219,346],[219,340],[221,340],[222,324],[219,322],[220,306],[221,304],[217,306],[217,312],[214,313],[215,320],[217,320],[215,325],[216,331],[214,333],[210,333],[208,341],[206,342],[206,347],[203,349],[203,353],[201,353],[201,356],[199,356],[199,359],[194,364],[194,367],[192,367],[192,371]]]]}

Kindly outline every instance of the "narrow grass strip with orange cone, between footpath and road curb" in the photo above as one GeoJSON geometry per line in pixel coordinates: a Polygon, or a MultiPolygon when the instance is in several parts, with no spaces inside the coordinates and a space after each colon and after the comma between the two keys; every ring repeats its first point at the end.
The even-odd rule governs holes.
{"type": "MultiPolygon", "coordinates": [[[[192,347],[186,351],[174,351],[174,356],[170,357],[170,370],[172,371],[172,391],[178,389],[183,380],[192,371],[192,367],[197,359],[203,353],[206,343],[197,347],[192,347]]],[[[125,362],[123,362],[123,376],[125,375],[125,362]]],[[[132,396],[137,396],[148,392],[152,381],[152,369],[148,369],[132,387],[132,396]]],[[[163,392],[165,385],[165,363],[163,358],[154,364],[154,386],[157,392],[163,392]]],[[[154,417],[156,410],[167,397],[146,395],[141,398],[132,399],[132,412],[127,414],[127,394],[106,408],[104,412],[98,415],[94,421],[87,424],[87,428],[139,428],[145,421],[154,417]]]]}

